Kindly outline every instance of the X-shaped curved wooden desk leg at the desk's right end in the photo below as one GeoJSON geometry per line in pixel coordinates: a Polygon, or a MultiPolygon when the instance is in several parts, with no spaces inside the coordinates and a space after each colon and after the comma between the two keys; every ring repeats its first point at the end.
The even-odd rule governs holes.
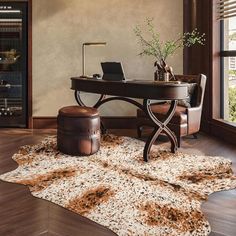
{"type": "Polygon", "coordinates": [[[165,132],[166,135],[168,136],[168,138],[170,139],[171,142],[171,152],[175,153],[177,150],[177,139],[175,134],[169,129],[169,127],[167,127],[167,124],[170,122],[171,118],[173,117],[173,115],[175,114],[175,109],[177,106],[177,100],[173,100],[171,101],[171,105],[170,108],[166,114],[166,119],[161,122],[160,120],[158,120],[156,118],[156,116],[153,114],[152,110],[151,110],[151,102],[149,99],[144,99],[143,101],[143,106],[144,109],[146,111],[146,113],[148,114],[149,118],[154,122],[154,124],[156,125],[153,132],[151,133],[150,137],[148,138],[144,150],[143,150],[143,158],[144,161],[148,161],[148,157],[149,157],[149,153],[151,150],[151,147],[153,145],[153,143],[156,141],[156,139],[158,138],[158,136],[162,133],[165,132]]]}

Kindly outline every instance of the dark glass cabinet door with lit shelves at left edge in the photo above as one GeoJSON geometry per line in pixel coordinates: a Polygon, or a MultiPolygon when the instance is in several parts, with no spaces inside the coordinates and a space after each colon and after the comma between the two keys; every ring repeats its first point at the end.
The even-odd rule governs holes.
{"type": "Polygon", "coordinates": [[[0,127],[27,126],[27,5],[0,2],[0,127]]]}

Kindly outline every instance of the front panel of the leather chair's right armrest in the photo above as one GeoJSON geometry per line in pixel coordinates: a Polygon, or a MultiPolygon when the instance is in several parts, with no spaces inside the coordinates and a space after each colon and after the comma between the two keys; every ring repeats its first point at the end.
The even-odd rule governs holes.
{"type": "Polygon", "coordinates": [[[188,115],[188,134],[194,134],[200,130],[202,107],[187,108],[188,115]]]}

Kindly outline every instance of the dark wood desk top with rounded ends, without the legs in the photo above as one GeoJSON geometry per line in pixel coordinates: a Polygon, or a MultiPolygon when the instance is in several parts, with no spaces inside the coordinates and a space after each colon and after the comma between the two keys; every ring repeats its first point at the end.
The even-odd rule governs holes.
{"type": "Polygon", "coordinates": [[[97,94],[156,100],[180,100],[188,96],[187,84],[176,81],[105,81],[73,77],[71,78],[71,89],[97,94]]]}

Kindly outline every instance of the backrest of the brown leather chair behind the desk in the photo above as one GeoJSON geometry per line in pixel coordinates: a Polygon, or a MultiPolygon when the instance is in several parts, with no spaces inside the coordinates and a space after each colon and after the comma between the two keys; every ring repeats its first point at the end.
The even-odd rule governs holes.
{"type": "Polygon", "coordinates": [[[197,83],[197,90],[193,93],[193,97],[191,98],[194,102],[193,106],[203,105],[203,98],[206,87],[206,76],[203,74],[199,75],[175,75],[175,80],[186,82],[186,83],[197,83]]]}

